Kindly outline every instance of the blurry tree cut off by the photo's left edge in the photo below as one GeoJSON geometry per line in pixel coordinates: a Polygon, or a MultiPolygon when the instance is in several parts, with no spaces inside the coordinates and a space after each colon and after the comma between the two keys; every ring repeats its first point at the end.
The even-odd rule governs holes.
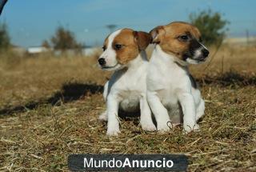
{"type": "Polygon", "coordinates": [[[0,23],[0,50],[10,47],[10,36],[7,31],[6,23],[0,23]]]}

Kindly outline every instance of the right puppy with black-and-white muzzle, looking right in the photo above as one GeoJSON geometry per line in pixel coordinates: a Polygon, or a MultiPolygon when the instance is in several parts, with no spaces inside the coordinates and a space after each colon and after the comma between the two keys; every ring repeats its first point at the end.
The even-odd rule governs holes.
{"type": "Polygon", "coordinates": [[[186,22],[171,22],[150,31],[155,43],[150,59],[147,100],[157,129],[183,122],[183,131],[198,130],[205,103],[187,65],[206,61],[209,51],[200,40],[198,28],[186,22]]]}

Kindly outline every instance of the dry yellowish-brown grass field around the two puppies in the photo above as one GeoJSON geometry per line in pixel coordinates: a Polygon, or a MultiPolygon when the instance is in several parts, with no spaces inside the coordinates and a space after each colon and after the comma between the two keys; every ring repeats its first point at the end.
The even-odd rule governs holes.
{"type": "Polygon", "coordinates": [[[256,171],[256,48],[223,46],[191,72],[206,100],[201,131],[144,132],[121,120],[106,137],[98,115],[110,72],[96,57],[0,58],[0,171],[66,171],[67,157],[91,154],[186,154],[189,171],[256,171]]]}

